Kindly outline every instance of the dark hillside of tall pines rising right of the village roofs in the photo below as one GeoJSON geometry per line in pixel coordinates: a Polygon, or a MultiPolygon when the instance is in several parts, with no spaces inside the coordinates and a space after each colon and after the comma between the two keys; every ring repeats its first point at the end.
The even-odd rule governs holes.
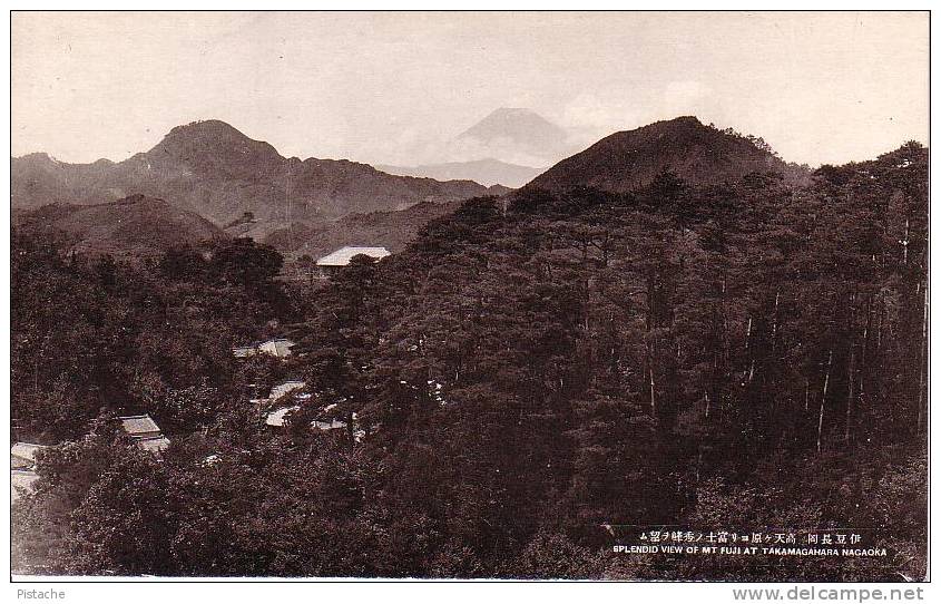
{"type": "MultiPolygon", "coordinates": [[[[881,526],[885,567],[921,576],[927,182],[912,143],[806,188],[661,173],[467,202],[337,279],[306,344],[350,369],[310,378],[382,426],[389,505],[484,566],[606,523],[881,526]]],[[[795,564],[782,577],[893,574],[795,564]]]]}

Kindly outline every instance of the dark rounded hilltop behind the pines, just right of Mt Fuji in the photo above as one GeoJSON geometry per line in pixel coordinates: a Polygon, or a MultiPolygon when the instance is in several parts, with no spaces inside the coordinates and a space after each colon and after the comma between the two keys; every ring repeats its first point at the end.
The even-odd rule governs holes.
{"type": "Polygon", "coordinates": [[[805,183],[808,171],[785,164],[761,138],[704,126],[692,116],[612,134],[537,176],[530,186],[589,186],[626,193],[670,171],[692,185],[718,185],[752,173],[805,183]]]}

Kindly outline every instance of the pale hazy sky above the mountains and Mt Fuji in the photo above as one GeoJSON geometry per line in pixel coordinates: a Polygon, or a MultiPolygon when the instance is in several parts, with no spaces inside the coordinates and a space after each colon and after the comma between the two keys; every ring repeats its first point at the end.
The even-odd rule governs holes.
{"type": "Polygon", "coordinates": [[[498,107],[588,144],[696,115],[812,165],[928,143],[928,13],[12,17],[12,154],[119,160],[223,119],[282,155],[433,160],[498,107]]]}

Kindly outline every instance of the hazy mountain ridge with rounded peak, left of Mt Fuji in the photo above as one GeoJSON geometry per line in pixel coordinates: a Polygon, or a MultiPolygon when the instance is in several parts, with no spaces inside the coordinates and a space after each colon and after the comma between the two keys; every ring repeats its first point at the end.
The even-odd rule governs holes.
{"type": "Polygon", "coordinates": [[[11,162],[17,208],[50,203],[99,204],[133,194],[167,199],[220,227],[251,213],[255,237],[351,212],[401,210],[499,194],[470,181],[393,176],[347,160],[282,157],[218,120],[178,126],[153,149],[112,163],[63,164],[45,154],[11,162]]]}

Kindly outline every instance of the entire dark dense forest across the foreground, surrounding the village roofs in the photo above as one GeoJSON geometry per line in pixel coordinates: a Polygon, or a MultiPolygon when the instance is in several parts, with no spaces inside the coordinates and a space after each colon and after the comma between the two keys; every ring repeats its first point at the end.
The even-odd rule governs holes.
{"type": "Polygon", "coordinates": [[[55,445],[14,571],[921,578],[928,226],[909,143],[810,184],[476,198],[313,286],[251,240],[131,263],[14,233],[13,439],[55,445]],[[300,353],[232,357],[269,335],[300,353]],[[273,430],[248,399],[292,377],[273,430]],[[327,407],[351,429],[311,430],[327,407]],[[865,527],[889,556],[616,554],[628,525],[865,527]]]}

